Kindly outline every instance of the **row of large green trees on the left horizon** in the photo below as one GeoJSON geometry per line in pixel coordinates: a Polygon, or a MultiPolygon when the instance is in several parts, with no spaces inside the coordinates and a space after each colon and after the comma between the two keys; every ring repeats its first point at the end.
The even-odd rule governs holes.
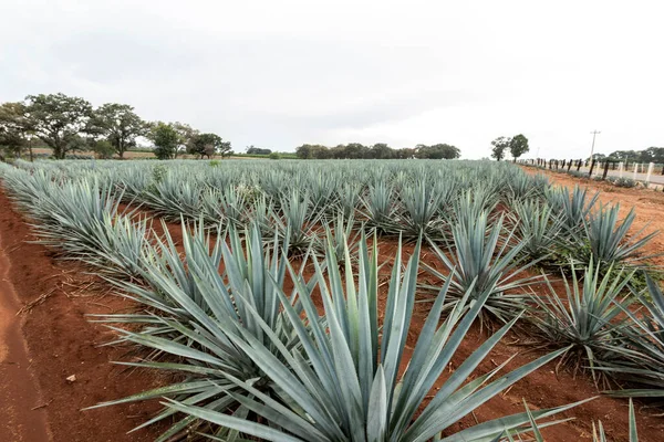
{"type": "Polygon", "coordinates": [[[0,104],[0,147],[32,159],[34,140],[63,159],[77,150],[93,150],[101,158],[120,158],[145,137],[159,159],[181,152],[210,158],[230,154],[230,143],[212,133],[201,133],[185,123],[145,122],[127,104],[106,103],[93,107],[84,98],[59,94],[29,95],[22,102],[0,104]]]}

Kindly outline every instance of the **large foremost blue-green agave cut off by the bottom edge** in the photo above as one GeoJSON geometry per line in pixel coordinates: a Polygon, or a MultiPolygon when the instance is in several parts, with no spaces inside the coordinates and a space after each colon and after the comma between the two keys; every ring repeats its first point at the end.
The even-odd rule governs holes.
{"type": "MultiPolygon", "coordinates": [[[[417,248],[418,249],[418,248],[417,248]]],[[[334,246],[328,246],[328,261],[335,262],[334,246]]],[[[349,248],[345,248],[349,253],[349,248]]],[[[315,280],[321,290],[326,326],[321,327],[310,295],[301,296],[305,317],[284,301],[284,313],[298,333],[301,352],[281,346],[281,358],[258,339],[237,327],[228,336],[269,377],[279,399],[267,396],[246,381],[229,379],[245,391],[237,400],[266,423],[229,418],[205,407],[169,401],[167,406],[253,436],[273,441],[427,441],[487,400],[538,367],[558,357],[562,350],[541,357],[509,375],[498,377],[498,369],[468,381],[491,348],[505,336],[516,319],[481,344],[442,385],[438,392],[417,414],[434,383],[452,360],[488,293],[479,296],[466,312],[469,293],[439,324],[448,282],[440,291],[409,357],[406,337],[415,302],[418,250],[402,275],[401,250],[395,254],[382,333],[377,311],[377,249],[369,252],[360,243],[357,271],[346,260],[344,275],[336,266],[324,272],[320,263],[315,280]],[[304,327],[311,325],[311,329],[304,327]],[[406,367],[405,371],[401,367],[406,367]]],[[[302,285],[303,280],[297,284],[302,285]]],[[[302,291],[301,291],[302,293],[302,291]]],[[[248,306],[249,309],[250,306],[248,306]]],[[[258,314],[268,335],[269,326],[258,314]]],[[[280,346],[274,337],[273,344],[280,346]]],[[[543,419],[574,404],[558,409],[526,412],[465,429],[444,441],[484,441],[507,431],[522,429],[531,419],[543,419]]],[[[523,430],[523,429],[522,429],[523,430]]],[[[523,430],[526,431],[526,430],[523,430]]]]}

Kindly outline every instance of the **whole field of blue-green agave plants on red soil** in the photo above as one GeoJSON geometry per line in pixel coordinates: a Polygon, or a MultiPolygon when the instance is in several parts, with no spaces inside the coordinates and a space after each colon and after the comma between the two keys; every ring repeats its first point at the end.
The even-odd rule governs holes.
{"type": "Polygon", "coordinates": [[[42,244],[131,299],[89,319],[169,381],[89,407],[156,400],[138,428],[159,441],[543,440],[601,399],[469,418],[542,369],[656,440],[635,411],[664,398],[656,232],[588,190],[459,160],[19,160],[0,179],[42,244]],[[487,370],[515,336],[529,357],[487,370]]]}

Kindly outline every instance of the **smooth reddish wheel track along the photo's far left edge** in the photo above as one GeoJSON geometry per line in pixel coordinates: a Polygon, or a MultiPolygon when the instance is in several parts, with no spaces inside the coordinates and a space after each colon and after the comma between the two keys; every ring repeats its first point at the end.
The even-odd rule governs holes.
{"type": "Polygon", "coordinates": [[[20,304],[9,278],[10,267],[0,233],[0,441],[50,441],[45,403],[17,316],[20,304]]]}

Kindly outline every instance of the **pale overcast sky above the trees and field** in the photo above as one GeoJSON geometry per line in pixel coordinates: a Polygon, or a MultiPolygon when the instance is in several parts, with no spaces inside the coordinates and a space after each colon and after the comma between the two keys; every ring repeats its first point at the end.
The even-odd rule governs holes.
{"type": "Polygon", "coordinates": [[[662,1],[0,1],[0,102],[63,92],[248,145],[664,146],[662,1]]]}

